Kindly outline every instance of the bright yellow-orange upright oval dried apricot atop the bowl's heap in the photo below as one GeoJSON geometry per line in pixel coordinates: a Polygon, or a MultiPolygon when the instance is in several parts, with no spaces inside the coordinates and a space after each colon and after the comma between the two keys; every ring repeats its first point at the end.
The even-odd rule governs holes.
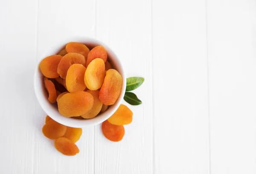
{"type": "Polygon", "coordinates": [[[89,90],[98,90],[104,81],[105,64],[101,58],[94,59],[84,74],[84,83],[89,90]]]}

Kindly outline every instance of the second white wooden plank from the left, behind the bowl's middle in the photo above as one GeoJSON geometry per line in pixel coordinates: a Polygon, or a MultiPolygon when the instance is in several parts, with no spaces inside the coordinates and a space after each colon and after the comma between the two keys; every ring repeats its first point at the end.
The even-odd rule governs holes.
{"type": "MultiPolygon", "coordinates": [[[[40,0],[38,9],[38,58],[51,46],[75,36],[94,37],[95,33],[95,1],[40,0]]],[[[37,115],[45,113],[38,106],[37,115]]],[[[43,119],[37,122],[42,126],[43,119]]],[[[52,141],[40,133],[35,141],[36,169],[38,174],[94,173],[94,129],[83,128],[83,134],[77,145],[80,153],[75,157],[65,157],[55,150],[52,141]]]]}

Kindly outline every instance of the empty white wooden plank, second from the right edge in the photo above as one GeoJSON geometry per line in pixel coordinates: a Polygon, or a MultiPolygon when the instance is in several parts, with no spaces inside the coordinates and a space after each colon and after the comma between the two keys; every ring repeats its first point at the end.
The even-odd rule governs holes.
{"type": "Polygon", "coordinates": [[[204,0],[153,0],[156,174],[209,173],[204,0]]]}

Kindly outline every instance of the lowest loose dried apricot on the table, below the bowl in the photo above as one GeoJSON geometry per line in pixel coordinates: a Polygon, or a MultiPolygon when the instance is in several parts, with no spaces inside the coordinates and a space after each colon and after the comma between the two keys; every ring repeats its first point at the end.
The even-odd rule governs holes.
{"type": "Polygon", "coordinates": [[[65,137],[55,139],[54,146],[57,151],[67,156],[74,156],[79,153],[79,148],[76,146],[76,144],[65,137]]]}

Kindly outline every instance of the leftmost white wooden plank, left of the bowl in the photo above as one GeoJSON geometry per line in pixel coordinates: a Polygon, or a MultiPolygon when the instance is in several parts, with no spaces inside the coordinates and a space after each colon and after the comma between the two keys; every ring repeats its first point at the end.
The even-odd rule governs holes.
{"type": "Polygon", "coordinates": [[[32,174],[35,168],[37,2],[0,1],[0,173],[32,174]],[[26,4],[26,10],[20,8],[26,4]]]}

